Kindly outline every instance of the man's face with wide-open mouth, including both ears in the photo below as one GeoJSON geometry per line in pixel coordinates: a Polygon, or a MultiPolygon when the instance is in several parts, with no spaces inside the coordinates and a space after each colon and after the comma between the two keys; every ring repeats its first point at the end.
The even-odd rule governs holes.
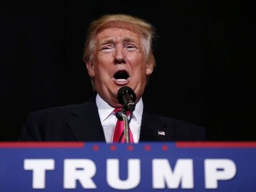
{"type": "Polygon", "coordinates": [[[95,38],[92,62],[87,62],[95,90],[113,107],[121,107],[117,91],[122,86],[134,90],[137,101],[145,89],[147,75],[153,72],[148,64],[142,36],[134,30],[119,27],[104,28],[95,38]]]}

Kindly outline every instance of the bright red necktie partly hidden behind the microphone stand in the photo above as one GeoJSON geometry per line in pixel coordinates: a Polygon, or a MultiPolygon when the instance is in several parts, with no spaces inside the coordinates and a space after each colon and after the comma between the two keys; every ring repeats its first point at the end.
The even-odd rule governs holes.
{"type": "MultiPolygon", "coordinates": [[[[117,108],[114,109],[114,112],[121,111],[122,109],[117,108]]],[[[130,115],[130,111],[126,112],[126,115],[130,115]]],[[[132,136],[132,131],[129,129],[129,138],[130,138],[130,143],[134,143],[134,137],[132,136]]],[[[114,136],[113,136],[113,143],[115,142],[120,142],[120,143],[125,143],[126,139],[124,138],[124,121],[117,119],[116,122],[116,128],[114,129],[114,136]]]]}

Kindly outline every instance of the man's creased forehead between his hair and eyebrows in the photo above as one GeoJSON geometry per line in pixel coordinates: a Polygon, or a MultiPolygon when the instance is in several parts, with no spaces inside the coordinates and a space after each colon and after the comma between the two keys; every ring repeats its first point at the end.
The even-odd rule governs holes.
{"type": "Polygon", "coordinates": [[[102,41],[135,41],[140,43],[141,34],[130,26],[109,26],[96,33],[96,42],[102,41]]]}

